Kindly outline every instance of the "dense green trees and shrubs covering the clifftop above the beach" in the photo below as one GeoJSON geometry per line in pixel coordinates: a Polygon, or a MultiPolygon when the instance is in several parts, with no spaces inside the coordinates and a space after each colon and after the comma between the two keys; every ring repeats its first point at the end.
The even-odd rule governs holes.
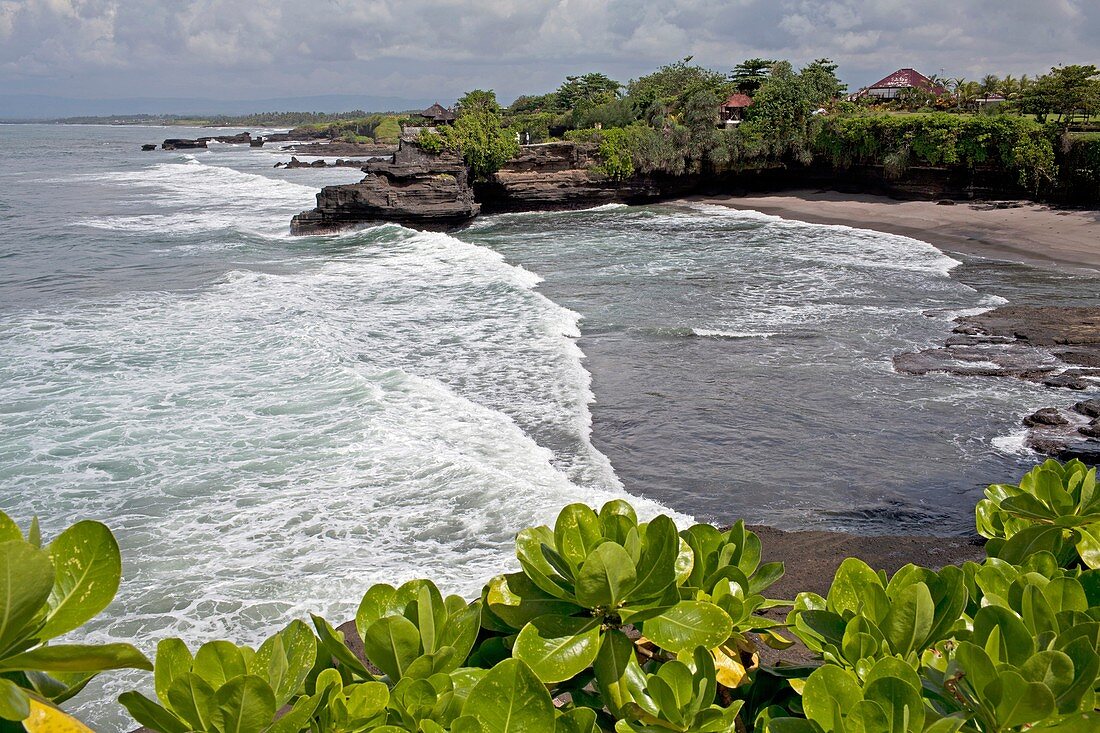
{"type": "Polygon", "coordinates": [[[594,143],[595,171],[615,180],[815,163],[882,166],[899,177],[936,166],[1003,173],[1036,196],[1100,197],[1100,153],[1080,131],[1100,105],[1093,66],[1055,67],[1034,79],[934,79],[947,91],[853,102],[840,99],[846,87],[828,58],[801,69],[750,58],[728,74],[691,62],[625,85],[602,74],[569,77],[554,92],[518,98],[503,124],[525,142],[594,143]],[[733,92],[752,103],[721,124],[719,107],[733,92]],[[985,95],[1005,100],[979,106],[985,95]]]}

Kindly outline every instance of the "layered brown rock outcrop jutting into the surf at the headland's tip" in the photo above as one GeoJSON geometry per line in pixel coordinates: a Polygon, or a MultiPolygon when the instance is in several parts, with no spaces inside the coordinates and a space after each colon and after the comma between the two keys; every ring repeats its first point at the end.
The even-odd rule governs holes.
{"type": "Polygon", "coordinates": [[[309,234],[370,221],[448,229],[481,211],[458,155],[432,155],[403,144],[391,160],[372,161],[363,172],[358,184],[322,188],[317,208],[294,217],[290,231],[309,234]]]}

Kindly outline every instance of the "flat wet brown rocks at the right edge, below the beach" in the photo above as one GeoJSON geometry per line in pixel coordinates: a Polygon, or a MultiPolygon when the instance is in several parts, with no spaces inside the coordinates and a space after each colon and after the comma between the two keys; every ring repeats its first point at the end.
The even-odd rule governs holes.
{"type": "MultiPolygon", "coordinates": [[[[945,346],[894,357],[908,374],[1008,376],[1048,387],[1100,389],[1100,308],[1004,306],[957,318],[945,346]]],[[[1027,446],[1100,464],[1100,398],[1044,407],[1023,418],[1027,446]]]]}

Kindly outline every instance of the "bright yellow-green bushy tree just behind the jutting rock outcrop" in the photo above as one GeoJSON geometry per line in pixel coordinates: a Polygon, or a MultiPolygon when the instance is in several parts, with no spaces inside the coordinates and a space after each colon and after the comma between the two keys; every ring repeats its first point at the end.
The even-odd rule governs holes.
{"type": "Polygon", "coordinates": [[[442,128],[441,134],[447,147],[462,155],[475,178],[495,173],[519,152],[516,134],[501,120],[501,106],[492,89],[466,92],[458,108],[454,124],[442,128]]]}

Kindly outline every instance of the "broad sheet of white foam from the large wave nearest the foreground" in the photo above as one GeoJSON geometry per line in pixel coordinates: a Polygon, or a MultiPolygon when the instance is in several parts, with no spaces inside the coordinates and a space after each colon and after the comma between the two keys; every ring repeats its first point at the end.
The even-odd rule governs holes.
{"type": "Polygon", "coordinates": [[[130,570],[100,638],[254,641],[410,573],[473,593],[520,527],[623,495],[587,440],[578,317],[537,282],[408,232],[9,324],[0,457],[37,468],[0,484],[24,490],[16,515],[63,502],[119,533],[130,570]]]}

